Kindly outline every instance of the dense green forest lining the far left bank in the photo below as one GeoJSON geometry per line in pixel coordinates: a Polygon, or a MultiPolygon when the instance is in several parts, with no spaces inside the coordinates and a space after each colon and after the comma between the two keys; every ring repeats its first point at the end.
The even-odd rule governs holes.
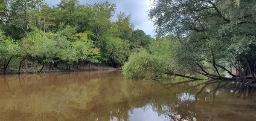
{"type": "Polygon", "coordinates": [[[109,2],[79,4],[61,0],[0,0],[0,66],[3,73],[32,68],[70,70],[84,63],[120,67],[132,52],[154,41],[143,30],[134,30],[131,14],[116,14],[109,2]],[[47,66],[45,66],[47,65],[47,66]],[[63,66],[64,65],[64,66],[63,66]]]}

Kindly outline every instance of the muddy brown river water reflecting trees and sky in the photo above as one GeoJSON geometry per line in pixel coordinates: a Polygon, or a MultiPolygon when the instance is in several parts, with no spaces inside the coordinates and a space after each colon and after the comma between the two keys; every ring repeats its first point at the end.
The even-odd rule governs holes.
{"type": "Polygon", "coordinates": [[[255,91],[121,71],[0,75],[0,121],[256,121],[255,91]]]}

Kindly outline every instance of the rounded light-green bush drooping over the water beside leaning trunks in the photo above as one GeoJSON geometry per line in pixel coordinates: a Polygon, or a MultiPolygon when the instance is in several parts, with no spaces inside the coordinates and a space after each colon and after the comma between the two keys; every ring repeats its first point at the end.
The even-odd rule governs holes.
{"type": "Polygon", "coordinates": [[[138,53],[133,53],[128,62],[122,66],[125,78],[152,79],[169,72],[169,70],[173,70],[170,57],[173,52],[172,48],[178,46],[175,45],[175,42],[174,37],[166,37],[163,40],[152,43],[150,52],[142,49],[138,53]],[[173,40],[173,42],[169,39],[173,40]]]}

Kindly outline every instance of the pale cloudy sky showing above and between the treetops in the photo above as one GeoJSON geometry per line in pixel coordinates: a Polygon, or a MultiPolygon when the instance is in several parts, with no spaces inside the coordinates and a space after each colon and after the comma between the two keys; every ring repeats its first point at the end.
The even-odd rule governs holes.
{"type": "MultiPolygon", "coordinates": [[[[50,5],[56,5],[61,0],[46,0],[50,5]]],[[[125,12],[125,14],[131,14],[131,23],[134,24],[135,29],[142,29],[147,35],[154,37],[154,26],[148,20],[148,9],[150,8],[150,0],[79,0],[80,4],[93,4],[99,2],[109,1],[110,3],[116,3],[116,14],[125,12]]],[[[113,17],[115,21],[116,17],[113,17]]]]}

